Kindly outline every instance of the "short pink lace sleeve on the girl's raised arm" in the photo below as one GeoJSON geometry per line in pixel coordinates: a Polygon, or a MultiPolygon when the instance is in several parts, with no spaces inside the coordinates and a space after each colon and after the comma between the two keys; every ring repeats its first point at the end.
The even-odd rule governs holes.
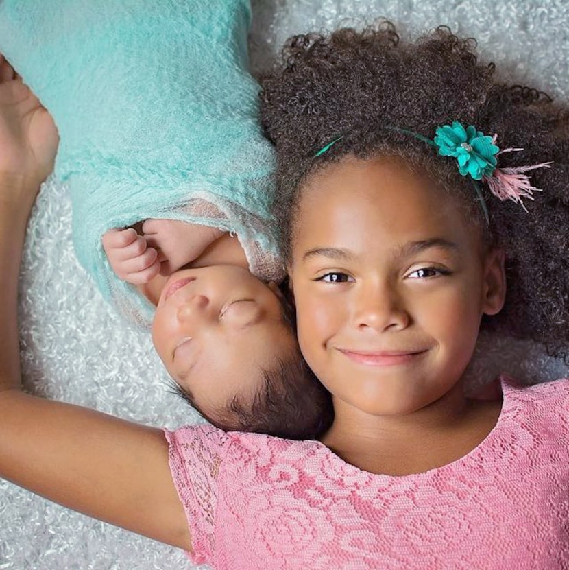
{"type": "Polygon", "coordinates": [[[178,496],[188,519],[196,564],[213,558],[217,484],[229,439],[209,425],[164,430],[169,444],[169,463],[178,496]]]}

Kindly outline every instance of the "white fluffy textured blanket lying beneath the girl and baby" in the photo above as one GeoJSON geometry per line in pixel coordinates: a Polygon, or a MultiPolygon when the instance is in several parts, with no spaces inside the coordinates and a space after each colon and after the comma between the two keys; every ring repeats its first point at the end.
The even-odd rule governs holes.
{"type": "MultiPolygon", "coordinates": [[[[253,5],[256,69],[266,67],[292,33],[387,16],[407,30],[450,25],[478,38],[482,53],[492,54],[516,82],[569,98],[565,0],[254,0],[253,5]]],[[[32,392],[157,426],[198,420],[167,393],[149,338],[112,313],[75,261],[71,206],[55,180],[44,185],[29,224],[20,314],[23,372],[32,392]]],[[[527,343],[483,339],[473,377],[502,369],[524,381],[569,374],[564,364],[527,343]]],[[[0,570],[173,568],[191,568],[182,552],[0,482],[0,570]]]]}

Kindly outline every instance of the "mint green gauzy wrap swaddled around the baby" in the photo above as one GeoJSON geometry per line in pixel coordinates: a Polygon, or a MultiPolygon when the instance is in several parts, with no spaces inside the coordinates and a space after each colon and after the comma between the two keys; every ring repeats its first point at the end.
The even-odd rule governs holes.
{"type": "Polygon", "coordinates": [[[112,274],[109,228],[151,217],[217,226],[238,235],[254,273],[282,277],[250,20],[248,0],[0,1],[0,50],[60,131],[77,257],[139,322],[152,307],[112,274]]]}

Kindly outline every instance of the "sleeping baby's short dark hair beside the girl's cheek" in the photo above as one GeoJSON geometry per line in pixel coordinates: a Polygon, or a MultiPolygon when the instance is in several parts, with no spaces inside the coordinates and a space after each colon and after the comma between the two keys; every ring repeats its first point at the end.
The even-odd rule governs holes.
{"type": "MultiPolygon", "coordinates": [[[[294,308],[283,302],[283,320],[295,331],[294,308]]],[[[208,422],[225,431],[250,431],[292,440],[315,439],[332,425],[332,398],[295,347],[271,370],[261,370],[263,383],[252,403],[237,394],[221,409],[206,414],[186,388],[171,383],[178,394],[208,422]]]]}

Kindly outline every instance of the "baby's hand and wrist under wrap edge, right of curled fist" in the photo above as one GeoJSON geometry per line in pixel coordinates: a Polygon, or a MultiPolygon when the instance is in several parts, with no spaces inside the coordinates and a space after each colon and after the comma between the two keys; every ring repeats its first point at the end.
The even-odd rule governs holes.
{"type": "Polygon", "coordinates": [[[175,219],[147,219],[143,234],[149,247],[158,251],[160,274],[170,275],[195,261],[223,231],[175,219]]]}

